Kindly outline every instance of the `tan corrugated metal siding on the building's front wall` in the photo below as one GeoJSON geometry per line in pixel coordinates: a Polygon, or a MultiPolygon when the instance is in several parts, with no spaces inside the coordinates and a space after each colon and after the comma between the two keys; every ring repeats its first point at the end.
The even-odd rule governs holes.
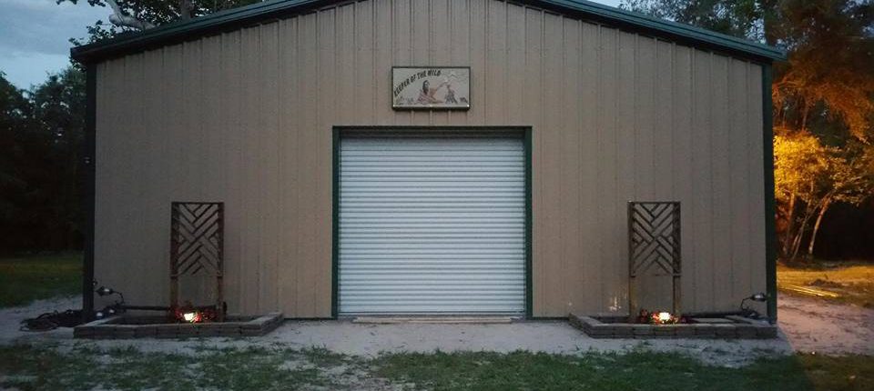
{"type": "Polygon", "coordinates": [[[167,301],[169,203],[228,203],[232,311],[330,316],[332,125],[531,125],[534,316],[623,311],[625,203],[683,203],[690,310],[765,289],[761,68],[498,0],[368,0],[97,70],[97,278],[167,301]],[[395,112],[391,65],[470,65],[395,112]]]}

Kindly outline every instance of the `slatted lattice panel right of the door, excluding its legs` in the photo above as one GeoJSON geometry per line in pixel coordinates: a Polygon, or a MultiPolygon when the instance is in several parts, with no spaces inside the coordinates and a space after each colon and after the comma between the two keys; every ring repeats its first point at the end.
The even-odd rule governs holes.
{"type": "Polygon", "coordinates": [[[628,203],[630,276],[656,268],[669,276],[680,274],[680,203],[628,203]]]}

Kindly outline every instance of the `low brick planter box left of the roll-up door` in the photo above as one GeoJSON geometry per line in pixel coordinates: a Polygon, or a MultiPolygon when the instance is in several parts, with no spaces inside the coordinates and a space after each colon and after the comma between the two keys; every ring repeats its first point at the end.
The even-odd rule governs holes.
{"type": "Polygon", "coordinates": [[[114,316],[73,328],[75,338],[190,338],[263,336],[282,323],[279,312],[265,316],[228,316],[224,322],[164,323],[166,316],[114,316]]]}

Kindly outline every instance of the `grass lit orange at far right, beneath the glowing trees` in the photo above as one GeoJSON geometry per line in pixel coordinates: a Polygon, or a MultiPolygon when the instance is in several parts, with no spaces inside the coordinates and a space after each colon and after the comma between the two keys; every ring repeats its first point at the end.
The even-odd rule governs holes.
{"type": "Polygon", "coordinates": [[[829,263],[813,261],[777,266],[777,288],[781,293],[798,296],[788,286],[805,286],[838,294],[823,297],[836,303],[874,307],[874,264],[829,263]]]}

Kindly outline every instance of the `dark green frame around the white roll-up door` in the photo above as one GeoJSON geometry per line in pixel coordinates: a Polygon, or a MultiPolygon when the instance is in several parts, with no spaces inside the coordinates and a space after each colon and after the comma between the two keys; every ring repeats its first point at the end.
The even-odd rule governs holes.
{"type": "Polygon", "coordinates": [[[435,133],[471,134],[471,133],[507,133],[519,135],[523,139],[525,154],[525,317],[531,318],[532,303],[532,226],[533,214],[531,207],[531,126],[334,126],[331,134],[331,250],[330,250],[330,316],[336,319],[340,311],[340,139],[350,134],[379,134],[387,136],[397,133],[435,133]]]}

